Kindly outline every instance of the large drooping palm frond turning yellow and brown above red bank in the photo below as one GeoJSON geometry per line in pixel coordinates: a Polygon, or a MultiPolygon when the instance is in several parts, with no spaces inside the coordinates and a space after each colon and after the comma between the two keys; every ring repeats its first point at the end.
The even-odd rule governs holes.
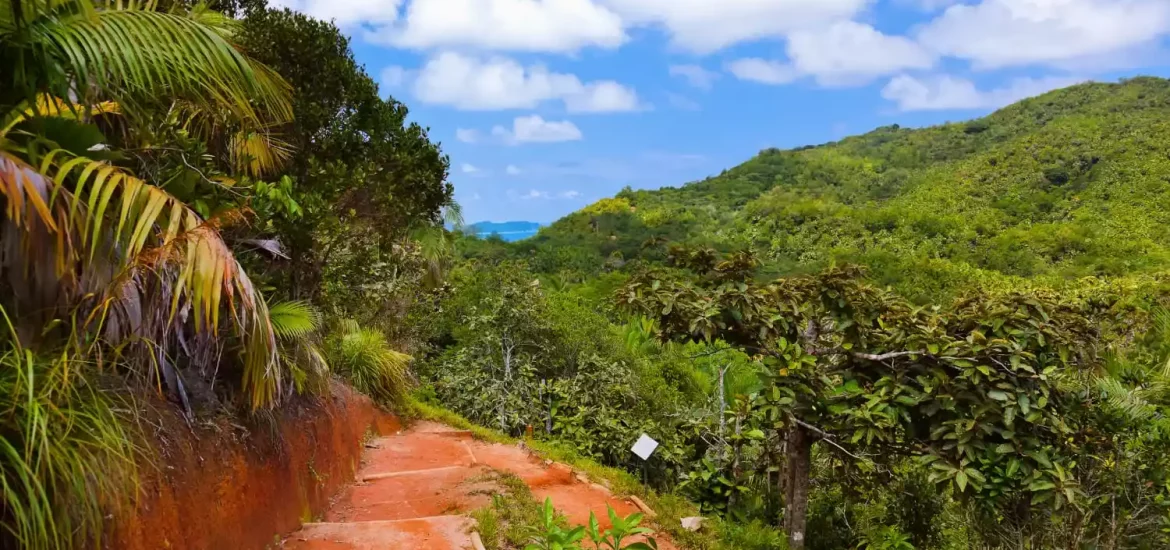
{"type": "Polygon", "coordinates": [[[219,220],[202,220],[116,166],[60,150],[46,154],[40,170],[0,151],[0,194],[15,229],[0,232],[8,252],[0,270],[25,279],[28,293],[16,300],[30,302],[27,310],[68,317],[55,310],[97,296],[87,318],[121,326],[122,334],[104,331],[118,339],[143,321],[143,298],[125,293],[146,284],[130,282],[166,279],[170,295],[154,297],[170,302],[166,326],[190,318],[197,332],[214,332],[226,309],[245,341],[253,406],[278,400],[283,376],[268,307],[220,238],[219,220]],[[123,318],[115,323],[111,315],[123,318]]]}

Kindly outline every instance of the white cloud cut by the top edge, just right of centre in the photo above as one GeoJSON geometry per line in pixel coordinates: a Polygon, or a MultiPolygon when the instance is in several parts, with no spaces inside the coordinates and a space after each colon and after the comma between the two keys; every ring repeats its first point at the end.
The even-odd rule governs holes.
{"type": "Polygon", "coordinates": [[[870,0],[600,0],[631,25],[667,29],[676,47],[710,53],[851,19],[870,0]]]}

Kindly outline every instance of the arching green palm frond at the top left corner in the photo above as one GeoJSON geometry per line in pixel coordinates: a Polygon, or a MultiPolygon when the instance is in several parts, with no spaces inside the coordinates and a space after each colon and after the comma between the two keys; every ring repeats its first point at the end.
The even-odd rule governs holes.
{"type": "MultiPolygon", "coordinates": [[[[94,8],[90,0],[55,2],[68,9],[43,9],[44,1],[13,5],[40,6],[25,27],[21,51],[43,51],[48,59],[25,59],[26,70],[55,71],[67,80],[57,87],[87,83],[82,96],[98,90],[123,106],[154,101],[165,95],[214,104],[243,119],[260,121],[255,105],[277,121],[291,118],[290,88],[271,70],[241,54],[218,30],[179,14],[158,13],[140,6],[123,9],[94,8]],[[33,25],[33,23],[36,25],[33,25]],[[163,39],[165,37],[165,39],[163,39]]],[[[53,74],[53,73],[46,73],[53,74]]],[[[22,82],[42,82],[21,75],[22,82]]],[[[68,90],[55,90],[64,95],[68,90]]]]}

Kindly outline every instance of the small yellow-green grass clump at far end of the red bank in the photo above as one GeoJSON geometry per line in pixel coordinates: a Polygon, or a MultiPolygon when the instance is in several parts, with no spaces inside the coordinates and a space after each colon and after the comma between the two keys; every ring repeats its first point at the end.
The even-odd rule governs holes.
{"type": "Polygon", "coordinates": [[[406,403],[411,356],[391,349],[380,331],[343,319],[325,341],[325,358],[333,372],[376,401],[406,403]]]}

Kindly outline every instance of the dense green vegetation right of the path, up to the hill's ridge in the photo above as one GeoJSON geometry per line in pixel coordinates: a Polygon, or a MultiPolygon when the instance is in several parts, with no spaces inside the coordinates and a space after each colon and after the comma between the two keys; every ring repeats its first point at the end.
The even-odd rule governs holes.
{"type": "Polygon", "coordinates": [[[1170,548],[1168,114],[1082,84],[461,239],[424,392],[652,434],[728,548],[1170,548]]]}

